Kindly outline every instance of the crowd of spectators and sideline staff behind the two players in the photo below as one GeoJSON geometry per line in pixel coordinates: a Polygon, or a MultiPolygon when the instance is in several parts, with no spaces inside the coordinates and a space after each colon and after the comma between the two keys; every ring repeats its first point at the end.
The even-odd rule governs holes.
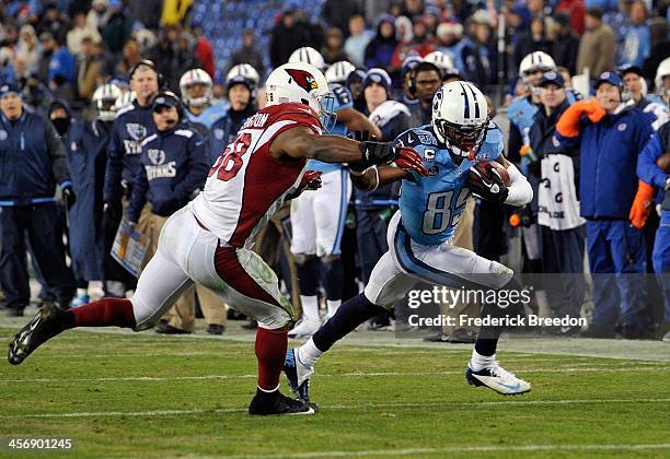
{"type": "MultiPolygon", "coordinates": [[[[86,303],[91,281],[106,295],[132,290],[134,276],[108,255],[122,217],[152,239],[149,257],[164,220],[197,195],[207,168],[263,106],[265,76],[302,60],[338,89],[349,110],[340,114],[343,134],[367,127],[362,115],[392,141],[430,122],[442,82],[482,87],[506,134],[506,155],[533,183],[535,199],[521,210],[471,199],[454,244],[554,275],[534,307],[591,322],[557,334],[662,337],[670,322],[662,275],[670,271],[669,3],[4,0],[4,306],[11,315],[28,306],[28,272],[42,285],[33,301],[61,307],[86,303]],[[157,186],[157,178],[169,181],[157,186]]],[[[322,286],[309,295],[302,273],[320,268],[291,250],[290,205],[258,238],[286,294],[310,305],[305,336],[327,314],[320,304],[327,310],[327,301],[346,299],[367,281],[386,249],[397,192],[351,195],[337,250],[316,257],[322,286]],[[326,279],[333,256],[343,267],[335,287],[326,279]]],[[[193,332],[200,311],[213,334],[235,318],[196,287],[157,331],[193,332]]],[[[392,323],[379,317],[370,327],[392,323]]],[[[473,333],[446,329],[436,339],[471,341],[473,333]]]]}

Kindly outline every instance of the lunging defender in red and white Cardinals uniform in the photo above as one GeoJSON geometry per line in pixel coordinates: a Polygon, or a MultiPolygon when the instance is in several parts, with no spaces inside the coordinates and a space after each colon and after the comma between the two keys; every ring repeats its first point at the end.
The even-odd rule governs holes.
{"type": "Polygon", "coordinates": [[[43,307],[10,343],[11,364],[22,363],[42,343],[70,328],[145,330],[198,282],[258,322],[258,381],[250,414],[314,412],[313,405],[279,392],[292,307],[280,294],[276,274],[250,250],[254,236],[285,200],[317,181],[317,174],[305,173],[308,158],[360,163],[360,167],[395,162],[419,175],[428,172],[412,149],[321,136],[331,125],[332,93],[316,68],[281,66],[266,87],[266,108],[249,118],[228,145],[209,170],[203,192],[163,226],[158,251],[132,298],[103,298],[67,311],[43,307]]]}

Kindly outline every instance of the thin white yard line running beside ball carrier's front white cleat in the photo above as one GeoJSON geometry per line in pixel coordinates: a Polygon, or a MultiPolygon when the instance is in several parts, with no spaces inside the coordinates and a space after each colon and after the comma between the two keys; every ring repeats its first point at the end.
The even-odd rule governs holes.
{"type": "MultiPolygon", "coordinates": [[[[603,367],[554,367],[554,368],[525,368],[524,374],[532,373],[627,373],[627,372],[667,372],[670,366],[635,366],[624,368],[603,367]]],[[[379,377],[379,376],[449,376],[462,375],[464,370],[443,372],[350,372],[340,374],[316,374],[316,378],[343,378],[343,377],[379,377]]],[[[108,381],[180,381],[180,380],[210,380],[210,379],[249,379],[256,375],[201,375],[201,376],[124,376],[105,378],[31,378],[31,379],[0,379],[0,384],[27,384],[27,382],[108,382],[108,381]]]]}

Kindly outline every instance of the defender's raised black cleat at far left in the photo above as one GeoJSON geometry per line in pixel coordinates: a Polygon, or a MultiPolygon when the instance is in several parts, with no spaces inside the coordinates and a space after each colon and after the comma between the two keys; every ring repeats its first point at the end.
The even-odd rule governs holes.
{"type": "Polygon", "coordinates": [[[22,363],[45,341],[70,328],[71,318],[53,303],[39,308],[33,320],[27,322],[9,345],[7,360],[12,365],[22,363]]]}

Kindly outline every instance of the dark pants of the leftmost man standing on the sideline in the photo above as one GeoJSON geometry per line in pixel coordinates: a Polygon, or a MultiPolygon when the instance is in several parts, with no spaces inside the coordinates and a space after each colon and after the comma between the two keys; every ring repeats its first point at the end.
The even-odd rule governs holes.
{"type": "Polygon", "coordinates": [[[24,308],[31,301],[25,235],[49,290],[67,307],[74,293],[74,278],[66,264],[62,233],[56,204],[0,208],[0,284],[7,306],[24,308]]]}

